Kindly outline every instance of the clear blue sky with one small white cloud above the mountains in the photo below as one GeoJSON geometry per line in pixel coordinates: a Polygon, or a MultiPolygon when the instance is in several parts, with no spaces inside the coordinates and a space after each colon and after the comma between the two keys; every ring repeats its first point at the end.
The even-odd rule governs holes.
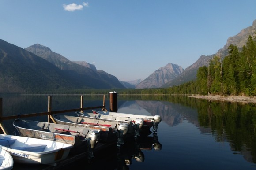
{"type": "Polygon", "coordinates": [[[255,19],[256,0],[0,0],[0,39],[132,81],[186,69],[255,19]]]}

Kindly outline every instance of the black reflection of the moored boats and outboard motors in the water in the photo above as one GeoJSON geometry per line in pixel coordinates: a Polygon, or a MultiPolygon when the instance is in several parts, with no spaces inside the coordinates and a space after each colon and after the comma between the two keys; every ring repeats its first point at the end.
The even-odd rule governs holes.
{"type": "MultiPolygon", "coordinates": [[[[151,134],[150,132],[149,134],[151,134]]],[[[152,136],[143,136],[138,139],[130,138],[125,141],[121,147],[112,147],[104,152],[96,154],[87,169],[123,169],[128,170],[133,162],[143,163],[145,155],[143,150],[160,151],[162,145],[158,141],[158,134],[153,133],[152,136]],[[102,162],[102,158],[107,159],[107,162],[102,162]],[[108,159],[111,158],[111,159],[108,159]],[[97,164],[101,162],[101,164],[97,164]],[[104,165],[103,165],[104,163],[104,165]]],[[[152,152],[154,154],[154,152],[152,152]]]]}

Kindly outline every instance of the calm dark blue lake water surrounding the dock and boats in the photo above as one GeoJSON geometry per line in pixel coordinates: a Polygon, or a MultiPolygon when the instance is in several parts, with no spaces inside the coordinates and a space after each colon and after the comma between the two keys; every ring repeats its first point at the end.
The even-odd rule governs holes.
{"type": "MultiPolygon", "coordinates": [[[[0,97],[4,116],[48,109],[48,96],[0,97]]],[[[109,110],[108,96],[106,100],[109,110]]],[[[118,112],[161,115],[157,134],[129,142],[120,150],[106,149],[90,163],[74,163],[68,169],[256,169],[255,104],[187,96],[118,96],[117,100],[118,112]]],[[[53,111],[79,108],[80,96],[52,96],[52,102],[53,111]]],[[[84,96],[84,107],[102,103],[102,96],[84,96]]],[[[46,117],[30,119],[47,121],[46,117]]],[[[12,121],[4,121],[4,126],[16,134],[12,121]]]]}

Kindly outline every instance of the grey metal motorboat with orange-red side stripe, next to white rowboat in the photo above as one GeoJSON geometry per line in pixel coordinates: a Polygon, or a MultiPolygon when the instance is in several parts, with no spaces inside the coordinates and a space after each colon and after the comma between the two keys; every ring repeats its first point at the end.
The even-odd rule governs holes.
{"type": "Polygon", "coordinates": [[[15,119],[13,126],[20,136],[46,139],[72,144],[71,154],[90,152],[98,142],[99,132],[85,127],[68,126],[56,123],[15,119]]]}

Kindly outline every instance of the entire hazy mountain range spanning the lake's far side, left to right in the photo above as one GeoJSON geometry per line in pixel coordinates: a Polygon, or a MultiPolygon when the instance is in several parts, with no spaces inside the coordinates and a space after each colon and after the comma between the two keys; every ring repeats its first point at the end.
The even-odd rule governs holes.
{"type": "Polygon", "coordinates": [[[150,74],[145,80],[119,81],[115,76],[85,61],[70,61],[50,48],[34,44],[20,48],[0,39],[0,93],[35,93],[64,91],[65,89],[124,89],[164,88],[195,80],[199,67],[207,66],[210,59],[228,54],[230,44],[239,49],[248,36],[256,32],[256,20],[252,26],[229,37],[226,45],[212,55],[201,55],[185,70],[168,63],[150,74]]]}

